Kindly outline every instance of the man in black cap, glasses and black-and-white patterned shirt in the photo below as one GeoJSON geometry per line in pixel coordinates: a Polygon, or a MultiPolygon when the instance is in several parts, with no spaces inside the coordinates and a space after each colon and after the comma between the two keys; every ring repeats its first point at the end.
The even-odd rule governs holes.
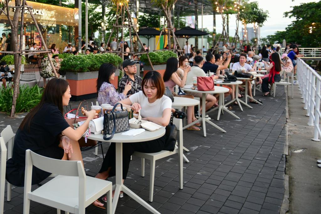
{"type": "Polygon", "coordinates": [[[132,89],[128,91],[127,96],[135,94],[142,90],[142,77],[135,75],[137,73],[136,64],[138,61],[125,59],[123,61],[124,76],[118,83],[119,92],[123,93],[126,83],[131,82],[132,89]]]}

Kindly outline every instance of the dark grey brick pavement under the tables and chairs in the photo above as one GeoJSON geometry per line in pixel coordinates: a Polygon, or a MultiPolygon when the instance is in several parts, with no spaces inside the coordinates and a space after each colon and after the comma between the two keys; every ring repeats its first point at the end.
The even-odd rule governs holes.
{"type": "MultiPolygon", "coordinates": [[[[222,115],[220,121],[212,120],[227,133],[208,124],[206,138],[203,131],[184,130],[184,146],[190,150],[185,153],[190,162],[184,163],[184,188],[178,188],[177,155],[158,160],[154,199],[150,204],[165,214],[279,213],[284,194],[286,99],[281,88],[277,92],[275,98],[259,97],[264,104],[252,104],[253,109],[244,107],[242,112],[233,106],[232,111],[240,120],[229,114],[222,115]]],[[[217,111],[210,116],[216,118],[217,111]]],[[[16,131],[21,120],[0,114],[0,130],[10,124],[16,131]]],[[[106,153],[108,144],[103,149],[106,153]]],[[[101,150],[98,156],[94,150],[82,155],[86,173],[97,174],[101,150]]],[[[145,177],[141,177],[140,163],[133,156],[125,184],[148,201],[150,165],[145,161],[145,177]]],[[[5,201],[4,213],[22,213],[23,188],[13,188],[12,194],[12,200],[5,201]]],[[[31,202],[30,213],[56,213],[56,210],[31,202]]],[[[106,212],[90,205],[86,213],[106,212]]],[[[116,213],[149,212],[125,195],[119,200],[116,213]]]]}

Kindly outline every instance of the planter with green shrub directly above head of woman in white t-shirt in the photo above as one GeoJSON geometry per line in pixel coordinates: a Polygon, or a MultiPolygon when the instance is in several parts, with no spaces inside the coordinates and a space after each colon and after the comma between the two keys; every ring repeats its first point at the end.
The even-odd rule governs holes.
{"type": "MultiPolygon", "coordinates": [[[[158,71],[161,74],[161,76],[163,76],[165,73],[167,59],[171,57],[177,57],[177,55],[176,53],[169,50],[159,50],[149,53],[149,58],[151,59],[154,70],[158,71]]],[[[146,54],[143,54],[140,60],[145,63],[143,74],[145,76],[147,72],[152,70],[152,67],[149,65],[146,54]]]]}

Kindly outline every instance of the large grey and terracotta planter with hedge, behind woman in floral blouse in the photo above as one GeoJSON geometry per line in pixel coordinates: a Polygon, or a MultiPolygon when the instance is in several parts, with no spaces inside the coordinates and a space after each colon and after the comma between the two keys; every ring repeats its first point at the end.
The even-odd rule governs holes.
{"type": "MultiPolygon", "coordinates": [[[[111,63],[118,67],[122,59],[112,53],[104,54],[69,54],[60,63],[60,70],[66,73],[66,80],[70,86],[71,99],[79,101],[97,96],[98,70],[103,63],[111,63]]],[[[119,75],[119,70],[115,72],[119,75]]],[[[117,88],[118,78],[112,84],[117,88]]]]}

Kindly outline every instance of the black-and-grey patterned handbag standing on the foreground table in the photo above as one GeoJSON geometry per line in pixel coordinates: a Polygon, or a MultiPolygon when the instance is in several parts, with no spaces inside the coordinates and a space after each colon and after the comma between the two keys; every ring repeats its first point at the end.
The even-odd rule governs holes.
{"type": "Polygon", "coordinates": [[[119,104],[121,109],[123,109],[123,105],[121,103],[116,103],[111,111],[107,111],[104,114],[104,129],[102,132],[104,140],[110,140],[114,137],[115,133],[129,130],[128,111],[115,111],[115,108],[119,104]],[[107,137],[107,135],[110,136],[107,137]]]}

